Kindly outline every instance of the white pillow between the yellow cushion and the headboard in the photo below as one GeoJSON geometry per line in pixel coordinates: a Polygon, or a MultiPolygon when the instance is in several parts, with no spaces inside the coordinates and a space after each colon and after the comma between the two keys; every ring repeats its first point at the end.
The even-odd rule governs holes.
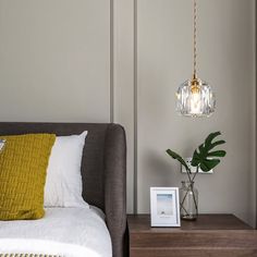
{"type": "Polygon", "coordinates": [[[89,207],[82,198],[82,155],[87,131],[57,136],[47,168],[45,207],[89,207]]]}

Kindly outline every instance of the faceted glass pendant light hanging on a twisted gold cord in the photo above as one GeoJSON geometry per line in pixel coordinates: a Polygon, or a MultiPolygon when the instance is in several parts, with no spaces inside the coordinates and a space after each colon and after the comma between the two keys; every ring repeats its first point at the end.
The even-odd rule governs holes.
{"type": "Polygon", "coordinates": [[[215,112],[216,99],[211,86],[197,77],[196,61],[196,0],[194,0],[194,71],[192,79],[184,82],[176,91],[176,110],[185,117],[209,117],[215,112]]]}

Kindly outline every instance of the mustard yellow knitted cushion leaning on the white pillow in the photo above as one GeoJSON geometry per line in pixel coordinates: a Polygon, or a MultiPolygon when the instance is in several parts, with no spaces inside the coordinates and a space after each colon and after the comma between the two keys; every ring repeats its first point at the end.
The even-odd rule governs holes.
{"type": "Polygon", "coordinates": [[[0,220],[44,217],[44,187],[53,134],[0,136],[0,220]]]}

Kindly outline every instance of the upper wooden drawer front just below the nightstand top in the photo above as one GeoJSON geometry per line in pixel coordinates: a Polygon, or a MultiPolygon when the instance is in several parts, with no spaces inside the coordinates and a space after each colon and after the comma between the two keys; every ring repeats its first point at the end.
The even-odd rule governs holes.
{"type": "MultiPolygon", "coordinates": [[[[171,230],[170,230],[171,231],[171,230]]],[[[144,248],[256,248],[254,231],[185,231],[169,233],[131,233],[131,247],[144,248]]]]}

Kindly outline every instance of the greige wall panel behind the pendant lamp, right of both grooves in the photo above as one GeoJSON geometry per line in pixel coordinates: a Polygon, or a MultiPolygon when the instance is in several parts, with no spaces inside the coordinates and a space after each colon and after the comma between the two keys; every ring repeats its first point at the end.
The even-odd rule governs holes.
{"type": "Polygon", "coordinates": [[[197,1],[198,75],[213,86],[217,111],[186,119],[175,112],[174,93],[192,76],[192,2],[137,1],[138,212],[149,211],[150,186],[180,186],[185,179],[167,148],[189,157],[210,132],[221,131],[228,155],[213,174],[197,178],[199,211],[232,212],[253,223],[255,2],[197,1]]]}

